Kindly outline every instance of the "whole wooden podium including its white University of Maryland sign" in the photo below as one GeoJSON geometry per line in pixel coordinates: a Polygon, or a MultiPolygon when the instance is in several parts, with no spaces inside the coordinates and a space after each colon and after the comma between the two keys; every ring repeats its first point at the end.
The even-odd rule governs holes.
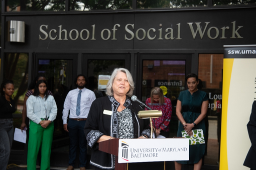
{"type": "Polygon", "coordinates": [[[188,160],[189,139],[113,138],[99,142],[99,150],[115,155],[115,170],[127,170],[128,163],[188,160]]]}

